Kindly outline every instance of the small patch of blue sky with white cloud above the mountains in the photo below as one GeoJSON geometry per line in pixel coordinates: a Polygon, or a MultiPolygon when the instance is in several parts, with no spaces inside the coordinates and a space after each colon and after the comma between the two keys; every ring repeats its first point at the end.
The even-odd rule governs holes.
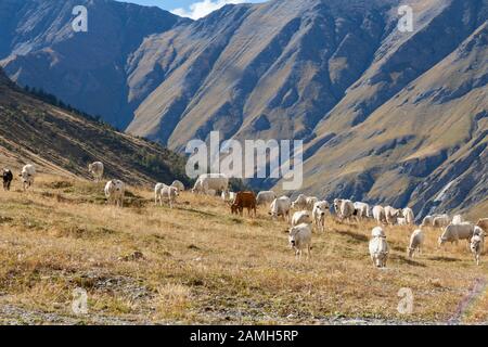
{"type": "Polygon", "coordinates": [[[265,0],[118,0],[143,5],[159,7],[183,17],[193,20],[206,16],[227,3],[265,2],[265,0]]]}

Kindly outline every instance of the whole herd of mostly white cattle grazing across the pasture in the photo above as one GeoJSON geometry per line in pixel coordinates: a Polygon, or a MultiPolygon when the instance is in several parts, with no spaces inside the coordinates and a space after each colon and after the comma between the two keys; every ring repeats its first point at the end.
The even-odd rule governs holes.
{"type": "MultiPolygon", "coordinates": [[[[97,182],[100,182],[104,174],[104,165],[95,162],[89,165],[89,174],[97,182]]],[[[34,165],[26,165],[20,174],[23,188],[27,190],[34,184],[36,168],[34,165]]],[[[13,174],[9,169],[3,170],[3,189],[10,190],[13,180],[13,174]]],[[[157,205],[167,202],[172,208],[179,193],[184,191],[184,185],[180,181],[174,181],[171,185],[157,183],[154,189],[154,202],[157,205]]],[[[296,257],[301,258],[304,250],[307,257],[311,256],[312,229],[325,231],[325,216],[328,211],[332,213],[332,206],[326,201],[320,201],[314,196],[298,195],[295,201],[288,196],[277,196],[272,191],[259,192],[230,192],[229,178],[222,174],[201,175],[193,189],[194,194],[205,194],[215,196],[221,193],[221,198],[229,204],[232,214],[243,215],[247,209],[248,215],[256,217],[258,206],[269,206],[268,214],[273,220],[282,218],[291,223],[286,230],[288,233],[290,246],[295,250],[296,257]],[[293,215],[292,215],[293,214],[293,215]]],[[[105,196],[108,204],[118,207],[124,206],[126,185],[123,181],[114,179],[105,184],[105,196]]],[[[414,226],[415,218],[413,210],[409,207],[397,209],[391,206],[373,206],[367,203],[351,202],[349,200],[336,198],[333,207],[338,221],[360,222],[361,220],[374,220],[377,223],[371,232],[369,244],[370,256],[373,265],[377,268],[386,267],[389,247],[386,240],[386,233],[383,226],[414,226]]],[[[439,246],[444,243],[458,243],[460,240],[466,240],[471,252],[475,257],[477,265],[480,262],[480,256],[484,250],[485,235],[488,230],[488,218],[478,220],[476,224],[464,221],[461,215],[450,218],[448,215],[426,216],[420,228],[415,229],[410,237],[407,247],[409,257],[413,257],[415,250],[421,253],[424,243],[424,229],[439,228],[442,230],[438,239],[439,246]]]]}

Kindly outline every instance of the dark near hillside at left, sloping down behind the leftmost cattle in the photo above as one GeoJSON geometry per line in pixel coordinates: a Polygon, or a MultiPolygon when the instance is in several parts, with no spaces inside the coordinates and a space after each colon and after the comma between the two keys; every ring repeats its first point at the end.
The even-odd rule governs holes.
{"type": "Polygon", "coordinates": [[[27,163],[43,172],[88,178],[102,160],[105,177],[131,184],[187,181],[184,159],[160,145],[115,131],[74,112],[44,103],[0,70],[0,163],[14,171],[27,163]]]}

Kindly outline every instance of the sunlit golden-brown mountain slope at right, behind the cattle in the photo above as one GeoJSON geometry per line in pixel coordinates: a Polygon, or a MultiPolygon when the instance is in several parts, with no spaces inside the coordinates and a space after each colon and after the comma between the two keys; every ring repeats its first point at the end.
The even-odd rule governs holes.
{"type": "Polygon", "coordinates": [[[485,23],[360,125],[329,130],[345,117],[332,112],[318,127],[330,140],[306,162],[304,189],[411,204],[422,215],[486,201],[487,43],[485,23]]]}

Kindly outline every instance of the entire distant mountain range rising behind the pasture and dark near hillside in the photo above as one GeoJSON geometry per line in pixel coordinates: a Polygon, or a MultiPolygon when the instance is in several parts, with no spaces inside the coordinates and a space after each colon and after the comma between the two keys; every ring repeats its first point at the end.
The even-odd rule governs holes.
{"type": "Polygon", "coordinates": [[[485,206],[486,0],[409,1],[412,33],[397,28],[400,0],[270,0],[227,5],[198,21],[108,0],[81,2],[89,13],[111,10],[104,33],[138,18],[133,40],[124,29],[118,40],[101,38],[97,27],[86,36],[93,49],[81,56],[104,64],[84,69],[90,78],[78,90],[97,95],[64,98],[77,78],[60,83],[60,74],[78,72],[79,60],[51,52],[81,37],[51,29],[56,22],[48,17],[69,14],[56,1],[26,1],[36,12],[7,1],[17,4],[22,21],[0,5],[11,28],[10,43],[0,43],[9,76],[176,151],[211,130],[223,139],[301,139],[305,193],[411,205],[418,215],[485,206]],[[44,8],[49,15],[39,11],[44,8]],[[37,27],[29,13],[43,18],[36,36],[22,34],[37,27]],[[106,49],[114,40],[130,44],[106,49]],[[24,43],[38,41],[35,49],[24,43]],[[61,73],[49,70],[59,62],[61,73]]]}

